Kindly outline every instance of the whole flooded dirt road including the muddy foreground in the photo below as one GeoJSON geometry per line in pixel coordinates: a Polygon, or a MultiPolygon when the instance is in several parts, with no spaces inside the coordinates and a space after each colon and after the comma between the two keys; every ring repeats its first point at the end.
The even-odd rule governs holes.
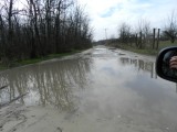
{"type": "Polygon", "coordinates": [[[96,46],[1,72],[1,86],[2,132],[177,131],[176,84],[157,77],[155,57],[96,46]]]}

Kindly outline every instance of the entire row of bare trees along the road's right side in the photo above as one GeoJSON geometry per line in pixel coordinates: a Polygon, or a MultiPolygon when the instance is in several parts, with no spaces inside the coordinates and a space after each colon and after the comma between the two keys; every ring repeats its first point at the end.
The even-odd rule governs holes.
{"type": "Polygon", "coordinates": [[[160,29],[150,28],[150,22],[142,19],[138,21],[137,28],[126,22],[118,26],[118,42],[122,44],[134,45],[137,48],[158,48],[159,40],[169,40],[175,43],[177,37],[177,15],[175,12],[168,16],[167,23],[162,31],[160,29]],[[162,32],[160,32],[162,31],[162,32]]]}

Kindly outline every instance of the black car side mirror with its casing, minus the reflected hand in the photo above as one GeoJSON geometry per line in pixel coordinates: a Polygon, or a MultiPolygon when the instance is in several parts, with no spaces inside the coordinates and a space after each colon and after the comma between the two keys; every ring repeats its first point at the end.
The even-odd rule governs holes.
{"type": "Polygon", "coordinates": [[[177,82],[177,69],[169,67],[169,61],[173,56],[177,56],[177,46],[162,50],[156,59],[156,73],[164,79],[177,82]]]}

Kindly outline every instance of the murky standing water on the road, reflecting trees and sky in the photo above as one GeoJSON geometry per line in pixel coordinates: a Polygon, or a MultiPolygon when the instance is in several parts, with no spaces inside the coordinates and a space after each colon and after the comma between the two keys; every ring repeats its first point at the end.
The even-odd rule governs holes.
{"type": "Polygon", "coordinates": [[[3,85],[0,101],[28,92],[22,103],[76,110],[77,120],[105,131],[177,130],[176,85],[157,77],[154,57],[94,47],[72,59],[3,72],[3,85]]]}

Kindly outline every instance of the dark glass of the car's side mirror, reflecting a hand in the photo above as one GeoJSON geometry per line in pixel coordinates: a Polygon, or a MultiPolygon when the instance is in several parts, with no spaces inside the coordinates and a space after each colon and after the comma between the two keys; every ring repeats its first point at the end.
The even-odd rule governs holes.
{"type": "Polygon", "coordinates": [[[177,51],[168,51],[164,54],[162,63],[163,75],[170,79],[177,80],[177,51]],[[174,59],[174,57],[176,58],[174,59]],[[171,58],[176,65],[171,67],[171,58]]]}

